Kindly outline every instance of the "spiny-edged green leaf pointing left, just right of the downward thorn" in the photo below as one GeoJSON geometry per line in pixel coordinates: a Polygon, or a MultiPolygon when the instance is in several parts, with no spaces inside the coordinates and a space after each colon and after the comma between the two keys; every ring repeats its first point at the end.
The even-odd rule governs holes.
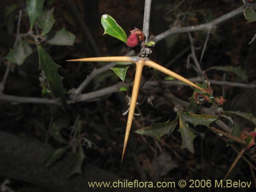
{"type": "Polygon", "coordinates": [[[159,140],[165,134],[172,134],[176,125],[177,118],[174,121],[167,121],[165,123],[153,123],[151,126],[143,127],[135,131],[135,133],[155,136],[159,140]]]}

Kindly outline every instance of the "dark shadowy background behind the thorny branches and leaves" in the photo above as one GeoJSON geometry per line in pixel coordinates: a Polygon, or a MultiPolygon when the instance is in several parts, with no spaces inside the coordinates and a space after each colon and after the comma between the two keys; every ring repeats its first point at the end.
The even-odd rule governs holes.
{"type": "MultiPolygon", "coordinates": [[[[100,24],[100,18],[105,13],[111,15],[126,34],[129,34],[129,31],[134,27],[142,30],[144,1],[84,0],[73,2],[79,10],[78,13],[83,22],[86,23],[93,35],[101,56],[122,56],[130,51],[123,42],[108,35],[102,36],[103,28],[100,24]]],[[[177,2],[180,1],[176,1],[176,4],[178,4],[177,2]]],[[[175,25],[175,16],[178,12],[172,8],[174,3],[175,1],[153,0],[150,35],[157,35],[167,30],[170,25],[175,25]]],[[[12,4],[17,4],[19,9],[25,8],[24,1],[2,0],[0,3],[2,8],[0,24],[1,79],[6,69],[6,60],[3,60],[3,58],[13,47],[16,34],[19,9],[14,13],[14,29],[9,31],[11,33],[8,32],[8,20],[4,16],[4,10],[12,4]]],[[[45,6],[49,8],[55,6],[54,18],[56,22],[53,31],[65,27],[66,30],[76,35],[76,42],[73,47],[47,47],[53,60],[61,66],[59,73],[64,77],[63,86],[68,91],[78,87],[94,67],[99,68],[102,65],[66,62],[67,59],[93,57],[98,56],[98,54],[93,51],[79,22],[74,18],[75,13],[65,1],[46,1],[45,6]]],[[[240,6],[242,6],[242,1],[184,1],[179,10],[180,13],[188,14],[180,25],[189,26],[206,23],[207,19],[217,18],[240,6]]],[[[255,82],[256,41],[251,45],[248,45],[248,42],[254,36],[256,27],[255,23],[247,24],[246,22],[244,16],[240,15],[212,32],[201,63],[203,70],[212,66],[241,66],[246,71],[249,82],[255,82]]],[[[28,16],[24,14],[20,32],[25,33],[28,29],[28,16]]],[[[206,32],[194,32],[192,35],[196,39],[195,47],[199,48],[196,53],[200,58],[206,32]]],[[[193,68],[186,69],[186,59],[190,54],[190,49],[187,49],[189,46],[188,35],[180,34],[176,37],[176,41],[171,41],[170,38],[159,41],[153,48],[153,54],[150,55],[150,58],[166,66],[180,52],[187,50],[168,68],[186,78],[196,77],[197,73],[193,68]],[[170,46],[170,44],[173,44],[173,46],[170,46]]],[[[135,68],[131,67],[127,71],[126,82],[133,80],[134,70],[135,68]]],[[[26,59],[24,65],[15,67],[10,73],[4,93],[15,96],[41,97],[39,74],[37,53],[34,52],[26,59]]],[[[159,75],[161,78],[165,77],[163,74],[159,73],[159,75]]],[[[207,75],[209,79],[222,80],[223,78],[223,73],[218,71],[209,71],[207,75]]],[[[227,74],[227,80],[243,82],[236,75],[230,73],[227,74]]],[[[120,80],[109,70],[96,76],[83,93],[109,87],[118,81],[120,80]]],[[[222,95],[223,89],[225,90],[224,110],[251,112],[256,115],[255,90],[227,86],[224,86],[224,88],[212,86],[212,89],[217,96],[222,95]]],[[[177,97],[186,101],[193,93],[193,90],[188,87],[175,86],[171,87],[170,90],[177,97]]],[[[136,117],[133,131],[153,122],[165,122],[168,119],[174,119],[176,116],[173,111],[174,105],[163,98],[157,98],[154,106],[143,101],[143,98],[139,99],[139,108],[143,117],[136,117]]],[[[53,138],[48,139],[45,143],[46,132],[49,129],[51,119],[62,123],[61,134],[66,139],[69,139],[71,127],[78,120],[84,137],[92,143],[91,147],[84,146],[83,148],[86,154],[82,166],[83,176],[86,178],[84,181],[115,180],[116,178],[125,178],[132,181],[134,179],[141,181],[222,179],[237,156],[237,153],[227,147],[226,143],[216,134],[207,131],[206,127],[198,127],[198,131],[205,135],[204,139],[201,137],[195,139],[195,154],[191,154],[187,150],[180,150],[181,135],[177,130],[170,137],[162,137],[160,141],[153,137],[131,133],[124,161],[120,163],[126,124],[126,117],[123,117],[122,113],[126,109],[125,93],[115,93],[93,102],[80,102],[63,107],[47,104],[13,104],[1,101],[0,131],[2,132],[2,140],[0,142],[2,142],[2,146],[5,146],[5,150],[0,148],[3,151],[1,161],[11,162],[15,158],[16,161],[6,164],[10,167],[4,167],[0,164],[0,167],[2,166],[0,168],[2,170],[0,180],[4,181],[6,178],[10,178],[10,186],[16,191],[44,191],[44,188],[50,190],[58,185],[61,191],[63,188],[68,188],[66,185],[81,180],[78,175],[73,176],[65,184],[63,184],[62,179],[58,179],[63,176],[61,175],[63,174],[62,169],[71,166],[72,161],[69,161],[69,158],[73,158],[72,153],[67,153],[60,160],[62,164],[59,164],[61,163],[59,162],[52,167],[55,175],[47,175],[52,169],[44,168],[43,165],[40,166],[39,160],[43,161],[44,158],[47,158],[51,148],[62,146],[53,138]],[[35,165],[32,166],[33,164],[35,165]],[[18,173],[16,173],[16,170],[18,173]],[[41,176],[44,176],[44,178],[41,178],[41,176]],[[51,178],[55,179],[49,182],[48,179],[51,180],[51,178]]],[[[244,130],[253,131],[254,129],[244,119],[235,118],[234,121],[241,124],[244,130]]],[[[244,160],[238,162],[229,178],[252,181],[252,185],[255,186],[250,167],[244,160]]],[[[78,185],[76,186],[78,187],[78,185]]],[[[103,191],[103,189],[97,190],[103,191]]],[[[218,189],[218,191],[221,190],[218,189]]],[[[246,189],[239,190],[246,191],[246,189]]],[[[215,189],[200,188],[197,191],[215,191],[215,189]]],[[[223,191],[225,190],[223,189],[223,191]]]]}

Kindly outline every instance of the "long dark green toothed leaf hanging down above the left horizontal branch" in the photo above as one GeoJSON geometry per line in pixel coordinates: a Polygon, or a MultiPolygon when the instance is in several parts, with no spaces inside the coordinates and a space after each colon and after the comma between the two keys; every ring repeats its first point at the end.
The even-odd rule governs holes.
{"type": "Polygon", "coordinates": [[[62,77],[58,74],[59,66],[52,60],[51,56],[41,46],[37,47],[39,65],[44,70],[47,82],[54,97],[65,99],[65,91],[62,85],[62,77]]]}

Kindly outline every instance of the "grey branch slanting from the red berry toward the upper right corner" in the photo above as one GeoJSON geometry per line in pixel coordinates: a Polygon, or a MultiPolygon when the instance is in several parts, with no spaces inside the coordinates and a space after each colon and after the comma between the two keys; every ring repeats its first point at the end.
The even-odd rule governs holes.
{"type": "Polygon", "coordinates": [[[230,11],[229,13],[226,13],[225,15],[222,15],[220,17],[218,17],[215,20],[212,20],[209,23],[206,24],[201,24],[201,25],[195,25],[195,26],[188,26],[188,27],[172,27],[170,29],[168,29],[167,31],[160,33],[158,35],[155,36],[155,42],[158,42],[162,39],[164,39],[165,37],[172,35],[174,33],[188,33],[188,32],[195,32],[195,31],[202,31],[202,30],[212,30],[214,29],[216,26],[223,24],[224,22],[226,22],[227,20],[236,17],[238,15],[241,15],[244,11],[244,6],[241,6],[233,11],[230,11]]]}

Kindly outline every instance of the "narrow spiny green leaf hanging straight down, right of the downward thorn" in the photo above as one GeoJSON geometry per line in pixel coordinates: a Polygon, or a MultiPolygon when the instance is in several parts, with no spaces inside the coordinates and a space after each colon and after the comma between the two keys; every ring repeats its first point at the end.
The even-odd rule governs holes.
{"type": "Polygon", "coordinates": [[[189,125],[185,122],[182,115],[179,115],[179,132],[181,133],[182,137],[182,145],[181,148],[187,148],[191,153],[194,154],[194,139],[196,135],[191,132],[189,125]]]}

